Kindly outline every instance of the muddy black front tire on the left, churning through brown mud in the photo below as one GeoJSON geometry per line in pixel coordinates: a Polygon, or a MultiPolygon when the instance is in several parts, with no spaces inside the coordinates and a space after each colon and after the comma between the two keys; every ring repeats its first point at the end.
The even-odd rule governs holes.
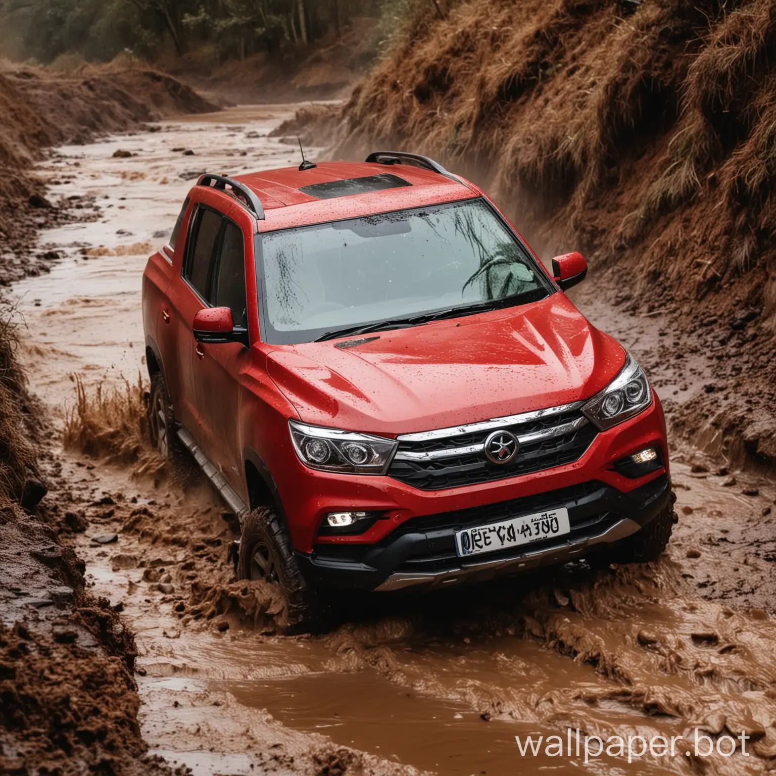
{"type": "Polygon", "coordinates": [[[283,610],[275,615],[278,632],[303,633],[320,626],[317,595],[296,563],[291,537],[275,508],[259,507],[244,519],[237,577],[278,587],[284,601],[283,610]]]}

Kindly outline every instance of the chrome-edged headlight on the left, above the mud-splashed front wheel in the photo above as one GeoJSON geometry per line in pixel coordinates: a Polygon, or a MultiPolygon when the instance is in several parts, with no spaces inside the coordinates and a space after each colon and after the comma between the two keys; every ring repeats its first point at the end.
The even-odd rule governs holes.
{"type": "Polygon", "coordinates": [[[296,421],[289,421],[289,431],[300,461],[324,472],[385,474],[399,444],[395,439],[296,421]]]}

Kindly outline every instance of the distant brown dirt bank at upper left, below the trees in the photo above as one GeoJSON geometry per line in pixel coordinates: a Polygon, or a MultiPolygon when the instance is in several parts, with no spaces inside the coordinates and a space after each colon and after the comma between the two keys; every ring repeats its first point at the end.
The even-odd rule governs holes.
{"type": "Polygon", "coordinates": [[[26,255],[37,230],[97,212],[94,201],[83,196],[47,199],[46,182],[32,170],[44,149],[217,109],[189,86],[151,69],[87,68],[68,76],[40,68],[0,69],[0,285],[45,272],[56,261],[56,251],[26,255]]]}

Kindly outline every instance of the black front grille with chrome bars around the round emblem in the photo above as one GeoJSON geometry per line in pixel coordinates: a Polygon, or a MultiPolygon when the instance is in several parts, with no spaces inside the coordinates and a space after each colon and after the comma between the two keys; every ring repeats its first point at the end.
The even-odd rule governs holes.
{"type": "Polygon", "coordinates": [[[503,424],[471,424],[450,429],[449,435],[400,436],[388,474],[420,490],[443,490],[563,466],[579,459],[598,434],[580,404],[515,415],[503,424]],[[492,463],[485,456],[484,443],[493,431],[511,431],[518,438],[518,455],[511,462],[492,463]]]}

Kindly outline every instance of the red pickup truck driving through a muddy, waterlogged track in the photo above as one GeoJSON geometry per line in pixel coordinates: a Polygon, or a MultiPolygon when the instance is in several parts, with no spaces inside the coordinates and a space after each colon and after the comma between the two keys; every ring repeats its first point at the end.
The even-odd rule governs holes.
{"type": "Polygon", "coordinates": [[[644,372],[475,185],[397,152],[203,175],[143,282],[149,417],[240,518],[288,631],[337,589],[433,589],[675,521],[644,372]]]}

